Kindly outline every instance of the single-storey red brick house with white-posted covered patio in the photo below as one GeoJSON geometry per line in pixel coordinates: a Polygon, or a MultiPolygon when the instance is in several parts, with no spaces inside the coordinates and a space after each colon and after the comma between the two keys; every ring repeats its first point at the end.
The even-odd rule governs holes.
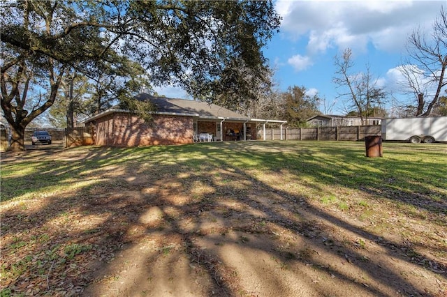
{"type": "MultiPolygon", "coordinates": [[[[94,131],[95,144],[103,146],[148,146],[189,144],[195,135],[207,133],[213,141],[259,139],[256,125],[286,121],[251,119],[224,107],[195,100],[154,97],[140,93],[137,100],[149,100],[156,111],[146,123],[128,110],[112,107],[85,120],[94,131]]],[[[281,129],[282,130],[282,129],[281,129]]],[[[264,133],[265,135],[265,133],[264,133]]]]}

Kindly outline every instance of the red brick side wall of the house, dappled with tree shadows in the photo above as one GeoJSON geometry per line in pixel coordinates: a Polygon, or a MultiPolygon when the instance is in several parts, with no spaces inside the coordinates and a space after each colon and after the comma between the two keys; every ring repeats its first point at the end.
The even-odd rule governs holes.
{"type": "Polygon", "coordinates": [[[193,119],[188,116],[155,115],[151,123],[126,113],[96,121],[96,144],[103,146],[148,146],[193,142],[193,119]]]}

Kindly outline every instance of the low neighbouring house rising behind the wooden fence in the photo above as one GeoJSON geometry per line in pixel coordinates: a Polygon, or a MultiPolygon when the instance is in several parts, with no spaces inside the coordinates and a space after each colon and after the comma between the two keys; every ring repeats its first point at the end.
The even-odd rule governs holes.
{"type": "Polygon", "coordinates": [[[309,127],[336,127],[350,125],[380,125],[382,118],[368,117],[362,119],[360,116],[339,116],[332,114],[318,114],[307,119],[309,127]]]}

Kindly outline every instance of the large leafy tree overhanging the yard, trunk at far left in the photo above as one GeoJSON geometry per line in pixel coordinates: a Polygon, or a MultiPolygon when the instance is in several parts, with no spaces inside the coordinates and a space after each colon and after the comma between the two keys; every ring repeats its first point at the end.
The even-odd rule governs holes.
{"type": "Polygon", "coordinates": [[[202,100],[227,91],[254,100],[247,87],[254,79],[247,77],[268,78],[261,48],[280,22],[271,1],[21,0],[1,6],[1,107],[13,149],[23,149],[24,128],[54,104],[69,73],[97,82],[104,73],[115,75],[110,85],[122,86],[116,92],[122,100],[142,77],[149,87],[175,84],[202,100]],[[134,73],[131,63],[142,71],[134,73]],[[244,73],[222,75],[235,65],[244,73]],[[38,104],[29,106],[31,84],[41,95],[30,93],[38,104]]]}

